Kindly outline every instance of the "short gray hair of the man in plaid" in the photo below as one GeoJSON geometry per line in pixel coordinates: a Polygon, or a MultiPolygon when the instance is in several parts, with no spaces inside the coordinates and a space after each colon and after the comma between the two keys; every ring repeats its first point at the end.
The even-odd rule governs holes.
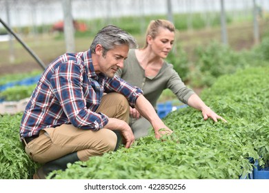
{"type": "Polygon", "coordinates": [[[128,45],[130,49],[138,48],[137,41],[128,32],[121,30],[117,26],[106,26],[102,28],[94,37],[90,45],[90,51],[95,54],[97,44],[103,47],[103,56],[108,50],[114,48],[115,45],[128,45]]]}

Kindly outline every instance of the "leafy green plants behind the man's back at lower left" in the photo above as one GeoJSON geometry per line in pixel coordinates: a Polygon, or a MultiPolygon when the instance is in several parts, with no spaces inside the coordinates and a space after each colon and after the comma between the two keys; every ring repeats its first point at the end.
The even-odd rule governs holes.
{"type": "Polygon", "coordinates": [[[0,116],[0,179],[29,179],[37,168],[19,141],[21,116],[0,116]]]}

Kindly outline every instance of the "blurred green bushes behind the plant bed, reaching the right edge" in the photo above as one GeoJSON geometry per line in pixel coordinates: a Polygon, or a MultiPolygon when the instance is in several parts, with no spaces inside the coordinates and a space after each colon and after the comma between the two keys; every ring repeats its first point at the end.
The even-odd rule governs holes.
{"type": "Polygon", "coordinates": [[[235,52],[230,46],[213,41],[206,47],[195,49],[193,70],[187,80],[192,87],[210,87],[223,74],[232,74],[239,69],[268,66],[269,37],[264,36],[261,43],[251,50],[235,52]]]}

